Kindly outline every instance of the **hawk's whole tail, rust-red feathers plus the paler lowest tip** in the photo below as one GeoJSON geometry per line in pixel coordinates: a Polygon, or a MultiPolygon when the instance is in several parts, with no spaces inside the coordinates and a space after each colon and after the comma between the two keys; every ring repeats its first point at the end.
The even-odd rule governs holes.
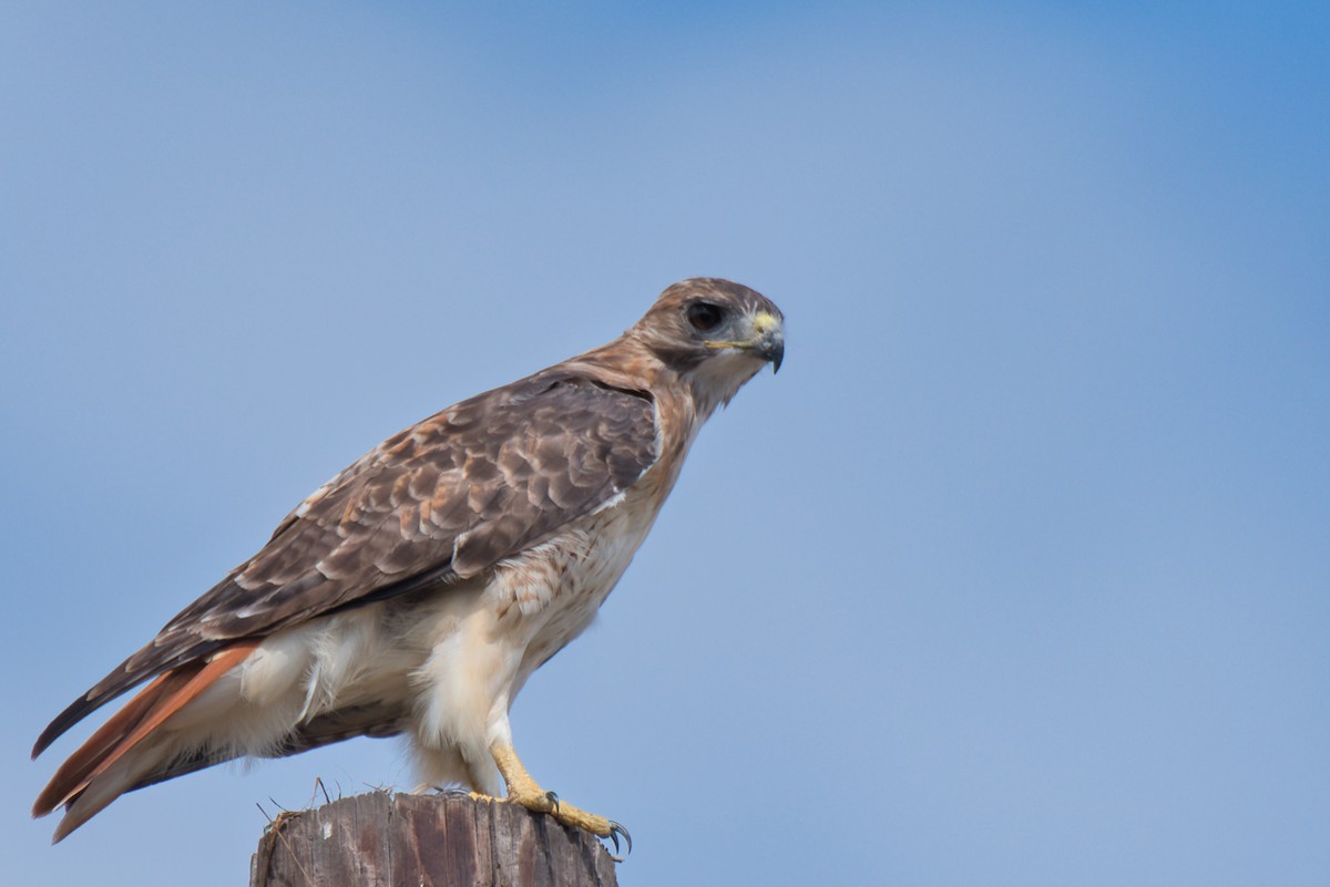
{"type": "MultiPolygon", "coordinates": [[[[259,640],[237,641],[213,655],[206,663],[196,660],[158,676],[116,712],[56,770],[51,782],[37,795],[32,815],[43,817],[64,805],[70,813],[56,831],[56,841],[60,841],[93,814],[134,787],[141,779],[149,777],[148,773],[130,773],[129,767],[125,766],[116,767],[114,774],[109,771],[130,750],[162,726],[170,716],[242,663],[258,644],[259,640]],[[77,817],[73,815],[76,803],[80,807],[77,817]],[[70,822],[70,817],[76,821],[70,822]]],[[[153,764],[160,766],[168,762],[153,764]]]]}

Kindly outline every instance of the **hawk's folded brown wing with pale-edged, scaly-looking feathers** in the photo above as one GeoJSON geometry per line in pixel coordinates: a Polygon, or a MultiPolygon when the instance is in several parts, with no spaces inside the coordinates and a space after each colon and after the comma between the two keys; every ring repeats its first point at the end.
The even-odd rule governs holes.
{"type": "Polygon", "coordinates": [[[545,370],[390,437],[301,502],[271,539],[43,733],[241,637],[473,576],[626,490],[657,458],[642,392],[545,370]]]}

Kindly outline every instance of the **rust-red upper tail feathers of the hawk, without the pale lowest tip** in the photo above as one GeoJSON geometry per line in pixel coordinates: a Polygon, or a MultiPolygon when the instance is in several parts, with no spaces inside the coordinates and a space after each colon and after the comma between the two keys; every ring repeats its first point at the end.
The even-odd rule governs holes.
{"type": "MultiPolygon", "coordinates": [[[[259,640],[242,640],[213,655],[160,675],[101,725],[69,760],[60,765],[51,782],[37,795],[32,815],[44,817],[61,805],[70,805],[93,779],[142,742],[166,718],[198,697],[217,679],[245,660],[259,640]]],[[[105,807],[114,798],[108,798],[105,807]]],[[[88,811],[90,817],[96,810],[88,811]]]]}

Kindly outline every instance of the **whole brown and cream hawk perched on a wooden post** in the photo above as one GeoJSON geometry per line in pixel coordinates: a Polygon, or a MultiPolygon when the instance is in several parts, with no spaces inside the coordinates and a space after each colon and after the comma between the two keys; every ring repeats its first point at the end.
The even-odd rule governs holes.
{"type": "Polygon", "coordinates": [[[783,315],[739,284],[666,288],[630,329],[390,437],[45,729],[33,757],[146,683],[33,806],[55,841],[126,791],[243,756],[404,734],[456,783],[613,838],[544,791],[508,709],[592,621],[698,429],[766,364],[783,315]]]}

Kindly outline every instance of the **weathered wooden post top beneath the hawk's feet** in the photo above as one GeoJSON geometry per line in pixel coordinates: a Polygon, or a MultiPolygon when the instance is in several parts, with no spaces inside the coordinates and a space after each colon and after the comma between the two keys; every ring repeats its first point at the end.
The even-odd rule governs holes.
{"type": "Polygon", "coordinates": [[[250,887],[616,887],[591,834],[466,794],[371,791],[283,813],[250,862],[250,887]]]}

